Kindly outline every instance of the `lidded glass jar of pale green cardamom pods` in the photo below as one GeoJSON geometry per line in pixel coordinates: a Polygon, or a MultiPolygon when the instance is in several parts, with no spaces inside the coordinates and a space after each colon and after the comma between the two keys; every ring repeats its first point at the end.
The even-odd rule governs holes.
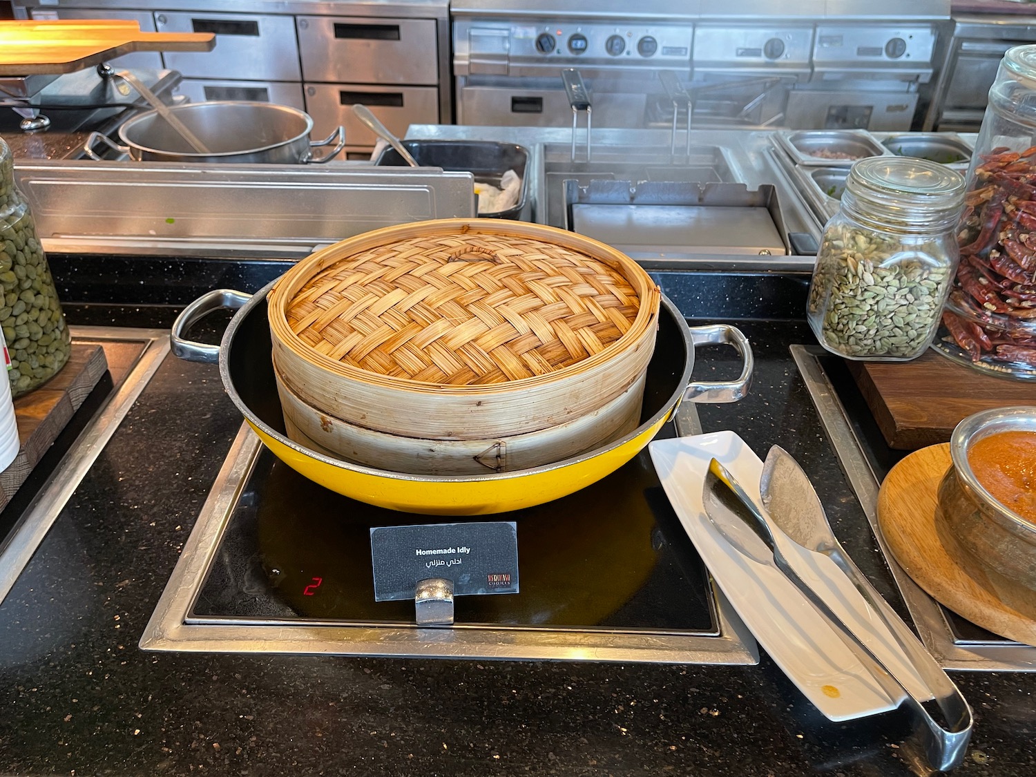
{"type": "Polygon", "coordinates": [[[965,179],[927,160],[855,163],[816,254],[806,317],[846,358],[898,361],[931,344],[958,262],[965,179]]]}

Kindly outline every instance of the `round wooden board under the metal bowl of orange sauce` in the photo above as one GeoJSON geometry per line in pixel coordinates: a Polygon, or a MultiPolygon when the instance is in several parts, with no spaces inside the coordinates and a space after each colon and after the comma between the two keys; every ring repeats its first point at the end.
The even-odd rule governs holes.
{"type": "Polygon", "coordinates": [[[1036,645],[1036,592],[994,579],[936,524],[939,484],[950,445],[915,451],[896,464],[877,495],[877,522],[892,555],[936,601],[983,629],[1036,645]]]}

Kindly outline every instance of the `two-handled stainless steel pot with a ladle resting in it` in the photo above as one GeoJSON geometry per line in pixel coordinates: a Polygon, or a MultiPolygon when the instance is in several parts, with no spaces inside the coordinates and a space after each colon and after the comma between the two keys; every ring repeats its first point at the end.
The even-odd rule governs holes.
{"type": "Polygon", "coordinates": [[[345,128],[339,126],[325,140],[310,141],[313,119],[289,106],[272,103],[214,100],[173,106],[175,114],[209,149],[198,153],[157,111],[148,111],[119,127],[119,145],[107,135],[90,133],[84,150],[92,160],[93,150],[104,143],[138,162],[222,162],[258,164],[322,164],[345,147],[345,128]],[[335,143],[324,156],[314,157],[313,149],[335,143]]]}

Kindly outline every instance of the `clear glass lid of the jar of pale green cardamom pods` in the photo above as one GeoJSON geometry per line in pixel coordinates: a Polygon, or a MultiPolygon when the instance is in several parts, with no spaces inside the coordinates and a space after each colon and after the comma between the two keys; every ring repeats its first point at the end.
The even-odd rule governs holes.
{"type": "Polygon", "coordinates": [[[928,160],[868,156],[850,169],[845,193],[854,210],[883,224],[941,228],[960,214],[965,177],[928,160]]]}

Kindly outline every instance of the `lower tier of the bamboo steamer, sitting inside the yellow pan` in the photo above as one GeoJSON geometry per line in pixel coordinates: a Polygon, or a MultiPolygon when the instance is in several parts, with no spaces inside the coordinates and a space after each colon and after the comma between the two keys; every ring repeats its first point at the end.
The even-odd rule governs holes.
{"type": "Polygon", "coordinates": [[[308,405],[282,379],[288,437],[355,464],[409,474],[480,476],[564,461],[631,432],[640,421],[644,376],[605,406],[566,424],[503,438],[440,440],[355,426],[308,405]]]}

